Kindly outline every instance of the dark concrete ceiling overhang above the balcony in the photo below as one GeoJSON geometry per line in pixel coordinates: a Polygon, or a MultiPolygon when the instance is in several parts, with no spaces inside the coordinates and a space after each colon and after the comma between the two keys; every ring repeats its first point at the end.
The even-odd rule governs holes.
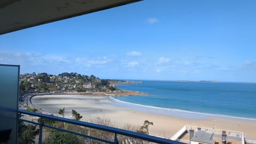
{"type": "Polygon", "coordinates": [[[141,0],[1,0],[0,35],[141,0]]]}

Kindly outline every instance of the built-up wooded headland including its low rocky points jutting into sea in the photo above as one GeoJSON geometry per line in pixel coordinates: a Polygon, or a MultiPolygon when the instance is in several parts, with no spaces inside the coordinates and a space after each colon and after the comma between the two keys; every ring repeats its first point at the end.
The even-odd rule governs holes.
{"type": "Polygon", "coordinates": [[[147,95],[137,91],[117,89],[115,85],[142,83],[141,81],[122,81],[100,79],[94,75],[77,73],[32,73],[20,75],[20,95],[28,93],[51,94],[93,94],[93,95],[147,95]]]}

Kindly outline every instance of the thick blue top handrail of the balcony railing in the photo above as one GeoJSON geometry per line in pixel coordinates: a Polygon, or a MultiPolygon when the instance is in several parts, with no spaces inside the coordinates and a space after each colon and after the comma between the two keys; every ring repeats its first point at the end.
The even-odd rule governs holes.
{"type": "Polygon", "coordinates": [[[99,124],[93,124],[93,123],[88,123],[88,122],[76,121],[74,119],[68,119],[68,118],[63,118],[63,117],[57,117],[57,116],[52,116],[52,115],[35,113],[33,111],[27,111],[27,110],[19,109],[18,112],[21,113],[21,114],[33,115],[33,116],[37,116],[37,117],[53,119],[55,121],[60,121],[60,122],[65,122],[65,123],[90,127],[92,129],[107,131],[107,132],[111,132],[111,133],[115,133],[115,134],[121,134],[121,135],[125,135],[127,137],[138,138],[138,139],[146,140],[146,141],[150,141],[150,142],[183,144],[182,142],[179,142],[179,141],[173,141],[173,140],[169,140],[169,139],[159,138],[159,137],[155,137],[155,136],[152,136],[152,135],[146,135],[146,134],[142,134],[142,133],[127,131],[127,130],[118,129],[118,128],[115,128],[115,127],[110,127],[110,126],[105,126],[105,125],[99,125],[99,124]]]}

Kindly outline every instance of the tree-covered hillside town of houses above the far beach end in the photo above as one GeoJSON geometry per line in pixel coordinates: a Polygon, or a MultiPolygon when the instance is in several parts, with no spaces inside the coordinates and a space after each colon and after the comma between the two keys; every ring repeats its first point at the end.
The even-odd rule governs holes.
{"type": "Polygon", "coordinates": [[[116,90],[115,85],[110,85],[107,80],[94,75],[87,76],[77,73],[62,73],[52,75],[47,73],[20,75],[20,92],[63,92],[63,91],[106,91],[116,90]]]}

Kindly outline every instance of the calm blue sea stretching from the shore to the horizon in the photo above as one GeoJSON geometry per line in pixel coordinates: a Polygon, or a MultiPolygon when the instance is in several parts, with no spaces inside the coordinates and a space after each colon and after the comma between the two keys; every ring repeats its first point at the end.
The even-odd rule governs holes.
{"type": "Polygon", "coordinates": [[[116,87],[149,94],[116,97],[129,103],[256,119],[256,84],[252,83],[143,81],[116,87]]]}

